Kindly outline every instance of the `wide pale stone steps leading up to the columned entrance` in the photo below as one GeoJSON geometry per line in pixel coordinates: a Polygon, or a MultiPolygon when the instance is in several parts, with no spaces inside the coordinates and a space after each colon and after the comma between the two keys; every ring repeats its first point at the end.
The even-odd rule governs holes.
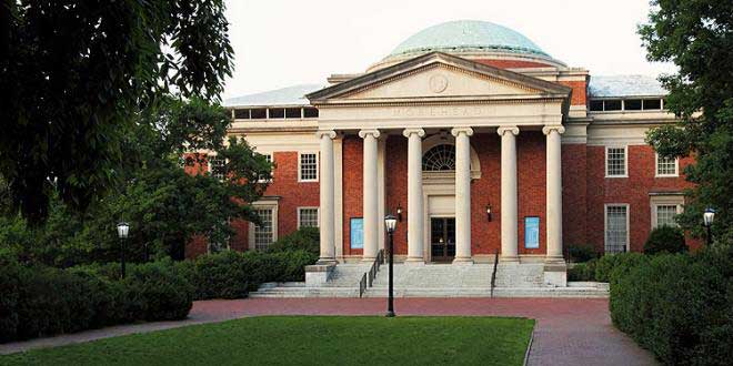
{"type": "MultiPolygon", "coordinates": [[[[251,297],[359,297],[359,281],[368,264],[339,264],[331,278],[319,287],[305,283],[263,284],[251,297]]],[[[394,265],[395,297],[490,297],[493,264],[394,265]]],[[[388,267],[382,266],[364,297],[385,297],[388,267]]],[[[608,297],[606,284],[569,283],[568,287],[544,284],[542,263],[500,263],[494,297],[608,297]]]]}

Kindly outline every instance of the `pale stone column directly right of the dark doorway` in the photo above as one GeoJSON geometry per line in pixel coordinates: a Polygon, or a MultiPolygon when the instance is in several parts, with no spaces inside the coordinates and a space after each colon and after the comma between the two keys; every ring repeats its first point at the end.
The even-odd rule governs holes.
{"type": "Polygon", "coordinates": [[[471,258],[471,128],[455,128],[455,258],[453,263],[473,263],[471,258]]]}

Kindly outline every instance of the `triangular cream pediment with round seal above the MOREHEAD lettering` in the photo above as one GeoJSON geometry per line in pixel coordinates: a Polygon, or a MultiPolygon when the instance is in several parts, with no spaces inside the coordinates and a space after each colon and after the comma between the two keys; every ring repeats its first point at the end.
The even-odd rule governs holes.
{"type": "Polygon", "coordinates": [[[433,52],[311,93],[313,104],[568,98],[570,88],[433,52]]]}

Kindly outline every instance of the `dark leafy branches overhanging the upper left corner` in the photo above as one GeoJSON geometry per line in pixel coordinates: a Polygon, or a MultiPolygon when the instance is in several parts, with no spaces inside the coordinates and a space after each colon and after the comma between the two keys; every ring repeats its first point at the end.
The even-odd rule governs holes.
{"type": "Polygon", "coordinates": [[[33,223],[116,185],[135,113],[231,74],[223,0],[0,1],[0,175],[33,223]]]}

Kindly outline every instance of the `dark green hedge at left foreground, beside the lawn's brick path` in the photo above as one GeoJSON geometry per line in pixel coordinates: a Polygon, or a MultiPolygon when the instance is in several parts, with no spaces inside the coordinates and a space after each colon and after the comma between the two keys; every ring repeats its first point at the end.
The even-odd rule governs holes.
{"type": "Polygon", "coordinates": [[[193,287],[171,262],[131,265],[124,279],[111,279],[101,270],[2,263],[0,342],[137,321],[181,319],[191,309],[193,287]]]}

